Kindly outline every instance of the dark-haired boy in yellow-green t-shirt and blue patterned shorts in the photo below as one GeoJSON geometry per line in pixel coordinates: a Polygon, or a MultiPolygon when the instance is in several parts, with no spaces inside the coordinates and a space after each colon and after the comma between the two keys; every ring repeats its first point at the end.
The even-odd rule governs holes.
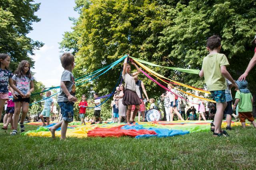
{"type": "Polygon", "coordinates": [[[204,77],[206,86],[211,92],[213,99],[216,101],[217,111],[214,117],[214,124],[212,124],[212,129],[214,128],[213,136],[228,136],[226,131],[221,130],[223,112],[227,106],[225,77],[232,83],[235,90],[238,87],[232,76],[230,76],[229,72],[226,70],[226,66],[229,65],[227,57],[224,54],[220,54],[220,37],[217,35],[209,37],[206,41],[206,49],[209,51],[209,55],[204,57],[202,70],[200,71],[199,76],[204,77]]]}

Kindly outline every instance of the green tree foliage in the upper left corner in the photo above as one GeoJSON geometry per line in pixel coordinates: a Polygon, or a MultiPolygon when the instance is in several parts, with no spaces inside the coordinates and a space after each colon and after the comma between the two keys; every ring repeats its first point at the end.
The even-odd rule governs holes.
{"type": "Polygon", "coordinates": [[[33,30],[32,22],[39,22],[34,15],[40,4],[33,0],[1,0],[0,1],[0,53],[8,53],[12,57],[10,68],[14,71],[19,62],[34,61],[28,56],[43,46],[42,42],[34,41],[26,36],[33,30]]]}

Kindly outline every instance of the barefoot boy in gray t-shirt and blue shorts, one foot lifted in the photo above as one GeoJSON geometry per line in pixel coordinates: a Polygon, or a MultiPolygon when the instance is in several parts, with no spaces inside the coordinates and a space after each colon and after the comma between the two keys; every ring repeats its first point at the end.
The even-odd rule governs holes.
{"type": "Polygon", "coordinates": [[[55,131],[61,127],[60,139],[66,139],[66,132],[68,123],[73,121],[74,117],[74,102],[77,101],[75,97],[76,86],[72,70],[75,67],[75,59],[71,53],[63,53],[60,57],[60,62],[64,68],[60,80],[60,94],[58,95],[58,104],[62,113],[62,121],[59,121],[56,125],[49,128],[52,133],[52,137],[55,138],[55,131]]]}

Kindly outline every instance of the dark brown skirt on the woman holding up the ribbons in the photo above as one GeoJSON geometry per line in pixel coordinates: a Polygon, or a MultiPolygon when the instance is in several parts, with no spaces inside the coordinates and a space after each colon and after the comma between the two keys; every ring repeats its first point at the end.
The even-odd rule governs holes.
{"type": "Polygon", "coordinates": [[[129,105],[140,105],[140,104],[141,104],[141,101],[138,94],[132,90],[125,89],[124,97],[123,97],[123,105],[129,106],[129,105]]]}

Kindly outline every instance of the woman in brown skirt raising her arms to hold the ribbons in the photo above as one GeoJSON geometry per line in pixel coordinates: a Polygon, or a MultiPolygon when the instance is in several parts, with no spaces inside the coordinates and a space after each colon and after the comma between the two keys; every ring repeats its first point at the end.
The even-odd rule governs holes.
{"type": "Polygon", "coordinates": [[[130,74],[131,66],[130,64],[127,63],[127,58],[124,60],[124,68],[122,72],[122,78],[124,79],[124,82],[125,82],[123,105],[128,106],[128,109],[126,112],[127,123],[134,123],[134,118],[137,115],[138,110],[140,109],[140,104],[141,104],[140,98],[136,93],[135,80],[133,79],[133,76],[140,74],[140,68],[133,61],[132,61],[132,65],[134,65],[138,71],[130,74]],[[135,105],[135,109],[132,115],[132,119],[130,121],[132,105],[135,105]]]}

